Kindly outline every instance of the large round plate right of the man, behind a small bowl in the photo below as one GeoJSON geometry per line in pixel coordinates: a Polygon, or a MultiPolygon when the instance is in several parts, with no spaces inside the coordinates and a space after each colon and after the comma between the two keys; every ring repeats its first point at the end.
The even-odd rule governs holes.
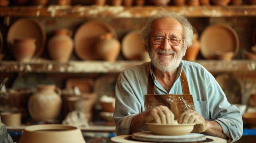
{"type": "Polygon", "coordinates": [[[225,24],[208,26],[201,34],[201,54],[205,59],[215,59],[216,52],[234,52],[236,56],[239,39],[236,31],[225,24]]]}

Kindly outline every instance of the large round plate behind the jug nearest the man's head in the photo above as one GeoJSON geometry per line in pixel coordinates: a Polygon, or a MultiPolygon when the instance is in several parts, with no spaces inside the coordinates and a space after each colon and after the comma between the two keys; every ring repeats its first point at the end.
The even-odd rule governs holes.
{"type": "Polygon", "coordinates": [[[75,53],[82,60],[99,60],[100,57],[94,52],[94,45],[98,41],[101,34],[113,33],[117,38],[115,30],[110,25],[98,21],[91,20],[81,25],[75,35],[75,53]]]}

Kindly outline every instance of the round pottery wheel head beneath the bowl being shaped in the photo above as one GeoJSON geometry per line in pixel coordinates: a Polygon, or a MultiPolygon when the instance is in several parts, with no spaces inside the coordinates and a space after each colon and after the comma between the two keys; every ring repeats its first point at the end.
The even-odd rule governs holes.
{"type": "Polygon", "coordinates": [[[151,131],[142,131],[133,133],[131,136],[133,139],[140,141],[156,141],[156,142],[195,142],[206,140],[205,135],[200,133],[188,133],[186,135],[156,135],[151,131]]]}

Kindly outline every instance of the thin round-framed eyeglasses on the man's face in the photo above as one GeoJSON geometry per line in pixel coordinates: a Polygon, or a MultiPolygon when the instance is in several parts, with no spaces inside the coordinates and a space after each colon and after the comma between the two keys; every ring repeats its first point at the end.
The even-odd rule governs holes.
{"type": "MultiPolygon", "coordinates": [[[[150,37],[151,38],[151,37],[150,37]]],[[[160,44],[162,44],[163,42],[164,42],[164,40],[165,39],[167,39],[167,38],[164,38],[164,37],[162,37],[162,36],[154,36],[153,38],[152,38],[152,41],[153,41],[153,43],[154,44],[156,44],[156,45],[160,45],[160,44]]],[[[171,45],[171,46],[178,46],[179,44],[180,44],[180,41],[182,41],[182,40],[180,40],[179,38],[177,38],[177,37],[170,37],[169,39],[167,39],[168,40],[168,43],[171,45]]]]}

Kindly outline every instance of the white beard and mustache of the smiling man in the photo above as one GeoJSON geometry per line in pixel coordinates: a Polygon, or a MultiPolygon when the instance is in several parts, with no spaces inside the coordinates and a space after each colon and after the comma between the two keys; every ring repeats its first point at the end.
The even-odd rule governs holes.
{"type": "Polygon", "coordinates": [[[182,50],[180,52],[175,52],[171,48],[169,50],[163,50],[159,48],[158,50],[154,50],[154,51],[150,49],[149,57],[154,67],[160,70],[161,72],[173,72],[180,66],[185,49],[186,48],[182,47],[182,50]],[[171,61],[169,61],[168,58],[164,58],[164,57],[159,58],[157,55],[158,52],[173,54],[173,58],[171,61]]]}

